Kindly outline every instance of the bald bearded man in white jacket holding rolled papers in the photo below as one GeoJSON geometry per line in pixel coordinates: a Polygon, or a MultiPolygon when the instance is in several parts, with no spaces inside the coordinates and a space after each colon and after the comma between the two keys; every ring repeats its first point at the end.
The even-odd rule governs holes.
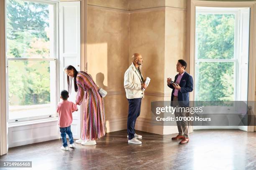
{"type": "Polygon", "coordinates": [[[126,98],[129,103],[127,133],[128,143],[141,144],[137,138],[142,138],[141,135],[135,133],[135,122],[141,113],[141,99],[144,97],[144,89],[147,85],[144,82],[141,74],[141,65],[143,63],[142,56],[138,53],[133,54],[132,64],[126,70],[124,75],[124,87],[126,98]]]}

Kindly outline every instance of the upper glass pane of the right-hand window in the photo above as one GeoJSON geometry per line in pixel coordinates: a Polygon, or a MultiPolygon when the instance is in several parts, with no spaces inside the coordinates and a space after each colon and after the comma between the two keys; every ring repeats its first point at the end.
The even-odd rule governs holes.
{"type": "Polygon", "coordinates": [[[196,58],[234,58],[234,14],[196,14],[196,58]]]}

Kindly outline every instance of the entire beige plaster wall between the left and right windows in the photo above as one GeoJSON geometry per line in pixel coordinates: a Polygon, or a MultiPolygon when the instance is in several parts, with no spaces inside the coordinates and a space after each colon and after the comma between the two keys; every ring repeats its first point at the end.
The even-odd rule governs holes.
{"type": "Polygon", "coordinates": [[[143,77],[150,77],[151,82],[142,100],[136,129],[176,133],[173,127],[165,132],[164,127],[155,127],[151,120],[151,101],[171,98],[166,77],[174,78],[177,60],[185,55],[186,0],[87,2],[87,69],[97,85],[110,94],[105,98],[108,132],[126,129],[128,102],[123,75],[131,65],[131,56],[138,52],[144,60],[143,77]],[[113,128],[115,125],[118,128],[113,128]]]}

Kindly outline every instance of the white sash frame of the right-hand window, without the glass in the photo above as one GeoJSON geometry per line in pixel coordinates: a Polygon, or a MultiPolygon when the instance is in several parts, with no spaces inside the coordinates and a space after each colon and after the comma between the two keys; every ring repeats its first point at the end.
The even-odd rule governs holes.
{"type": "MultiPolygon", "coordinates": [[[[234,101],[247,101],[248,96],[246,99],[241,99],[238,97],[239,92],[241,91],[242,87],[240,83],[238,83],[239,75],[243,74],[241,73],[240,65],[241,65],[241,45],[243,42],[241,42],[241,9],[242,8],[227,8],[227,7],[196,7],[195,14],[233,14],[235,15],[235,28],[234,28],[234,57],[233,59],[197,59],[197,38],[195,36],[195,67],[197,65],[197,62],[234,62],[234,101]],[[238,92],[239,90],[239,92],[238,92]]],[[[249,8],[250,10],[250,8],[249,8]]],[[[249,11],[250,12],[250,11],[249,11]]],[[[248,18],[249,19],[249,18],[248,18]]],[[[196,25],[195,25],[196,26],[196,25]]],[[[250,23],[249,23],[250,27],[250,23]]],[[[249,28],[248,28],[249,29],[249,28]]],[[[195,28],[196,30],[196,28],[195,28]]],[[[249,41],[249,37],[248,37],[249,41]]],[[[249,50],[249,48],[248,48],[249,50]]],[[[249,52],[248,52],[248,59],[249,59],[249,52]]],[[[248,65],[248,61],[246,63],[248,65]]],[[[197,75],[195,73],[195,81],[197,80],[197,75]]],[[[246,83],[248,86],[248,82],[246,83]]],[[[196,89],[197,84],[195,84],[196,89]]],[[[248,93],[248,88],[247,93],[248,93]]],[[[196,95],[195,95],[196,96],[196,95]]],[[[218,113],[237,113],[236,110],[238,110],[238,107],[215,107],[215,106],[207,106],[204,107],[204,113],[205,114],[218,114],[218,113]]]]}

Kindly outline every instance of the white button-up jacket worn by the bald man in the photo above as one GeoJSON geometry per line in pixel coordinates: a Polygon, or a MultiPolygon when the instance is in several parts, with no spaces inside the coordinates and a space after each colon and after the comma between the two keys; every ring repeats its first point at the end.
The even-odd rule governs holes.
{"type": "Polygon", "coordinates": [[[140,75],[133,63],[125,71],[123,85],[125,87],[126,98],[135,99],[144,97],[144,91],[141,89],[141,84],[143,84],[141,76],[142,74],[140,75]]]}

